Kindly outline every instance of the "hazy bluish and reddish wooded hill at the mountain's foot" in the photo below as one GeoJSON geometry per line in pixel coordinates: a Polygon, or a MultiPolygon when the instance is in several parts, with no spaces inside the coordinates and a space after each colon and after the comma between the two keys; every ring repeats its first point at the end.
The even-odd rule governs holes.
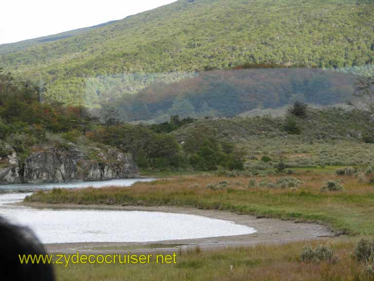
{"type": "MultiPolygon", "coordinates": [[[[202,72],[170,84],[152,83],[113,102],[122,120],[233,117],[294,101],[332,105],[352,99],[357,76],[314,68],[262,68],[202,72]]],[[[110,92],[115,93],[113,88],[110,92]]]]}

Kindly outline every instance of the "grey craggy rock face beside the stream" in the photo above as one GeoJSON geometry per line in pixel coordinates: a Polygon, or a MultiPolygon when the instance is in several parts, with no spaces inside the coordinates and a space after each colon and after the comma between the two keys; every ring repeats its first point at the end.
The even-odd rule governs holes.
{"type": "Polygon", "coordinates": [[[111,147],[93,150],[91,158],[94,160],[74,146],[64,150],[38,148],[24,160],[19,160],[11,150],[5,159],[0,159],[0,184],[101,181],[139,176],[139,168],[131,155],[111,147]]]}

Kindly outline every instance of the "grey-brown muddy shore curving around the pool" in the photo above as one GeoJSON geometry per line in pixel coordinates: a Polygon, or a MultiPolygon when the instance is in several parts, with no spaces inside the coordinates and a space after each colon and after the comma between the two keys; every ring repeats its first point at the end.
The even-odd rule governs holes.
{"type": "Polygon", "coordinates": [[[19,204],[35,208],[53,209],[96,209],[96,210],[123,210],[123,211],[151,211],[166,213],[184,213],[204,216],[212,219],[234,221],[257,230],[257,233],[240,236],[211,237],[203,239],[152,241],[152,242],[86,242],[46,244],[49,252],[59,253],[143,253],[143,252],[173,252],[188,251],[199,247],[201,250],[219,249],[226,247],[245,247],[256,244],[286,243],[290,241],[305,241],[332,237],[334,233],[324,225],[316,223],[296,223],[279,219],[257,219],[254,216],[238,215],[227,211],[199,210],[187,207],[144,207],[120,205],[79,205],[79,204],[45,204],[25,203],[19,204]]]}

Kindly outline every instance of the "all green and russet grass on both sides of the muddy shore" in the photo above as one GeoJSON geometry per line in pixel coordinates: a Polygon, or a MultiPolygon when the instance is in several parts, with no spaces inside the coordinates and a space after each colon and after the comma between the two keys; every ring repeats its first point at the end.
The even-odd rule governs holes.
{"type": "Polygon", "coordinates": [[[238,214],[317,221],[337,234],[323,241],[257,245],[213,251],[178,252],[175,265],[71,265],[56,266],[60,281],[71,280],[373,280],[373,266],[355,259],[355,245],[374,236],[374,185],[362,176],[340,175],[337,166],[295,169],[292,175],[222,177],[184,175],[129,188],[107,187],[39,191],[27,202],[188,206],[230,210],[238,214]],[[342,187],[321,191],[327,181],[342,187]],[[301,261],[303,249],[327,245],[335,261],[301,261]],[[233,265],[231,271],[230,267],[233,265]],[[372,266],[372,267],[370,267],[372,266]]]}

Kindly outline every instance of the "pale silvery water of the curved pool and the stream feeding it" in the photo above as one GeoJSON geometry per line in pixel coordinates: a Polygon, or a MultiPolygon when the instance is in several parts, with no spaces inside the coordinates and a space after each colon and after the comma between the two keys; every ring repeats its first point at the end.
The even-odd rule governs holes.
{"type": "MultiPolygon", "coordinates": [[[[140,181],[150,181],[141,179],[140,181]]],[[[139,180],[115,180],[115,185],[131,185],[139,180]]],[[[114,181],[22,185],[15,190],[82,188],[108,186],[114,181]],[[78,185],[78,186],[77,186],[78,185]],[[40,187],[42,186],[42,187],[40,187]]],[[[0,186],[1,188],[2,186],[0,186]]],[[[10,190],[9,185],[6,190],[10,190]]],[[[43,243],[67,242],[146,242],[244,235],[253,228],[232,221],[202,216],[142,211],[37,209],[9,205],[31,193],[0,194],[0,216],[30,227],[43,243]]]]}

